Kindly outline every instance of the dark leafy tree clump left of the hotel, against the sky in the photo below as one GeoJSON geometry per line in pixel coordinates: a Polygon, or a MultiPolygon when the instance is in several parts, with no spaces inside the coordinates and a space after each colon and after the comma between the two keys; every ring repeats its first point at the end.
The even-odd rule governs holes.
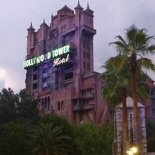
{"type": "Polygon", "coordinates": [[[11,88],[4,88],[0,92],[0,123],[7,123],[21,118],[38,120],[37,102],[32,100],[25,90],[15,94],[11,88]]]}

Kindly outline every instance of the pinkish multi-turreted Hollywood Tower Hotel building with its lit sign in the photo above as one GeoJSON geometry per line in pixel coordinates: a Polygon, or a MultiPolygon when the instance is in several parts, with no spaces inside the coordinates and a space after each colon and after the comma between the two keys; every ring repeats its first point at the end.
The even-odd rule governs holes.
{"type": "Polygon", "coordinates": [[[28,28],[26,90],[38,100],[41,114],[53,113],[69,121],[101,123],[107,105],[100,96],[102,82],[94,72],[93,11],[78,3],[67,6],[35,31],[28,28]]]}

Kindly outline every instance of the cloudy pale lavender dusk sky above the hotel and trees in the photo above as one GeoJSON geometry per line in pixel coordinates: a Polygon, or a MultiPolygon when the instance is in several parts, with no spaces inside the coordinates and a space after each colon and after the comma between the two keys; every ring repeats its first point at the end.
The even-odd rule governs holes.
{"type": "MultiPolygon", "coordinates": [[[[37,31],[43,22],[49,25],[51,15],[56,15],[64,5],[74,10],[78,0],[0,0],[0,91],[12,88],[15,92],[25,88],[27,28],[32,22],[37,31]]],[[[100,67],[116,55],[109,43],[115,36],[125,34],[125,29],[135,24],[155,35],[155,0],[80,0],[94,11],[94,68],[100,67]]],[[[154,42],[152,42],[155,44],[154,42]]],[[[151,56],[155,63],[155,56],[151,56]]],[[[149,73],[147,71],[147,73],[149,73]]],[[[155,73],[149,73],[155,80],[155,73]]]]}

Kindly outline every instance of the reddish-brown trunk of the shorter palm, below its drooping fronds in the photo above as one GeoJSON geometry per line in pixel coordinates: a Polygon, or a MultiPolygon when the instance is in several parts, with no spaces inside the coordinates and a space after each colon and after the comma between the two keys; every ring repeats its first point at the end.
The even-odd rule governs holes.
{"type": "Polygon", "coordinates": [[[124,141],[124,154],[129,147],[129,131],[128,131],[128,113],[127,113],[127,106],[126,106],[126,88],[122,89],[122,100],[123,100],[123,141],[124,141]]]}

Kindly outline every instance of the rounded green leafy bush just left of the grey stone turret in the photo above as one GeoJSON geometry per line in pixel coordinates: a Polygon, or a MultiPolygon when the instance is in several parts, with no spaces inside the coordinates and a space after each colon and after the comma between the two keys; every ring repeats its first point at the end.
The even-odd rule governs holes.
{"type": "Polygon", "coordinates": [[[110,124],[108,130],[104,127],[85,122],[78,127],[75,142],[80,155],[112,154],[113,127],[110,124]]]}

